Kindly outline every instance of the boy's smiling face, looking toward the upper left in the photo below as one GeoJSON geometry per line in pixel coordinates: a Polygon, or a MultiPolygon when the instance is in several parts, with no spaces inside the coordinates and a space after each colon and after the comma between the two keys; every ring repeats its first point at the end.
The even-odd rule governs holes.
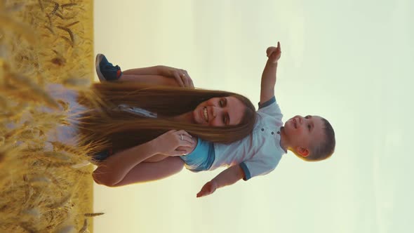
{"type": "Polygon", "coordinates": [[[324,124],[321,116],[293,116],[285,122],[283,135],[288,147],[306,157],[307,154],[300,153],[300,149],[314,148],[315,145],[325,140],[323,132],[324,124]]]}

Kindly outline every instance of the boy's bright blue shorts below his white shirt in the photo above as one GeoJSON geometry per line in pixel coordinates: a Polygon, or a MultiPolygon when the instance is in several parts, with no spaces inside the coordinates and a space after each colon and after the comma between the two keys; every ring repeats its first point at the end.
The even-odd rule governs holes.
{"type": "Polygon", "coordinates": [[[187,155],[180,156],[180,159],[184,161],[184,166],[189,171],[195,173],[199,171],[208,171],[215,159],[213,143],[203,141],[199,138],[194,150],[187,155]]]}

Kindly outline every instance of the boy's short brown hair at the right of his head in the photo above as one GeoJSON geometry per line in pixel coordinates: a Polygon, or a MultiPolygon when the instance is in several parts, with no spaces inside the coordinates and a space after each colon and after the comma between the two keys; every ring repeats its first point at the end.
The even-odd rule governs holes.
{"type": "Polygon", "coordinates": [[[321,161],[323,159],[328,159],[335,150],[335,132],[329,121],[324,118],[322,118],[322,121],[325,125],[325,128],[323,128],[325,140],[319,143],[319,145],[314,146],[314,148],[311,148],[309,156],[302,157],[305,161],[321,161]]]}

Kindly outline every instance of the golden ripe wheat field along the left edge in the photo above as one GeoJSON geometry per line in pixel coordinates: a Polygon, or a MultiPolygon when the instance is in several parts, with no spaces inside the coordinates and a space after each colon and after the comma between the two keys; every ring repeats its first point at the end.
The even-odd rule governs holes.
{"type": "Polygon", "coordinates": [[[67,124],[45,89],[93,80],[93,1],[0,1],[0,232],[92,232],[92,166],[84,148],[46,135],[67,124]]]}

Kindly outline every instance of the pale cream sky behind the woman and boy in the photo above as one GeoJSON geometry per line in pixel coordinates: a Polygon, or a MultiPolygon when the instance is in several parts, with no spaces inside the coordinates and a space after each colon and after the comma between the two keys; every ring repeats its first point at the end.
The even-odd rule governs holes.
{"type": "Polygon", "coordinates": [[[272,173],[202,199],[221,170],[95,185],[95,232],[414,232],[413,15],[409,0],[96,0],[95,53],[122,69],[187,69],[195,86],[254,103],[280,41],[283,120],[321,115],[337,146],[316,163],[289,152],[272,173]]]}

